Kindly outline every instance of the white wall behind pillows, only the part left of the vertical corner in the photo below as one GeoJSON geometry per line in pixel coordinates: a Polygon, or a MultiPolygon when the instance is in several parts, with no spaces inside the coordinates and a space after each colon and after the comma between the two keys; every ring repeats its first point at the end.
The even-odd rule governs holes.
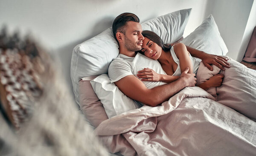
{"type": "MultiPolygon", "coordinates": [[[[57,54],[70,84],[70,61],[77,44],[112,26],[114,18],[132,12],[141,22],[180,9],[193,8],[189,34],[204,19],[207,0],[0,0],[0,27],[21,35],[32,32],[40,43],[57,54]]],[[[70,89],[71,90],[71,89],[70,89]]]]}

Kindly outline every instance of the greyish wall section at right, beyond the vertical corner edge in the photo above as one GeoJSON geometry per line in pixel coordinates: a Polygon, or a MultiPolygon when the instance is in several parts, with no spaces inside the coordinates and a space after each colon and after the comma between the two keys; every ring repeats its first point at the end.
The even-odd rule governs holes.
{"type": "MultiPolygon", "coordinates": [[[[238,58],[239,50],[242,43],[246,44],[244,39],[248,38],[244,33],[250,31],[249,28],[247,30],[245,28],[252,5],[253,0],[214,0],[212,3],[212,15],[229,50],[227,56],[237,61],[241,61],[241,56],[238,58]]],[[[244,55],[244,52],[245,50],[241,49],[243,54],[240,55],[244,55]]]]}

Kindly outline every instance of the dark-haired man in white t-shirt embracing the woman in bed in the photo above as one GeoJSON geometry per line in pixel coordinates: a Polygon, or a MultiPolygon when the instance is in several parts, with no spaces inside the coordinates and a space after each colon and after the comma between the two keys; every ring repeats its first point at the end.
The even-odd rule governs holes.
{"type": "MultiPolygon", "coordinates": [[[[114,37],[119,43],[119,55],[113,60],[108,69],[111,82],[128,97],[140,101],[149,106],[157,106],[185,87],[194,87],[196,84],[195,74],[187,73],[189,68],[180,75],[176,81],[163,84],[151,89],[145,87],[142,81],[136,77],[134,72],[133,58],[136,51],[141,50],[143,35],[139,18],[132,13],[123,13],[113,21],[112,29],[114,37]]],[[[211,69],[209,64],[215,64],[220,69],[229,67],[227,60],[216,55],[209,55],[187,46],[192,56],[200,58],[204,64],[211,69]]]]}

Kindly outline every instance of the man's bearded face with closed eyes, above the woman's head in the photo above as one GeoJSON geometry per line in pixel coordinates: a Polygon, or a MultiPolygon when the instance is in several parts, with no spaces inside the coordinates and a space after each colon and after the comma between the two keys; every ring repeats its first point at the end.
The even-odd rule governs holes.
{"type": "Polygon", "coordinates": [[[141,49],[142,40],[144,39],[141,32],[142,28],[140,23],[133,21],[127,22],[124,46],[128,51],[136,52],[141,49]]]}

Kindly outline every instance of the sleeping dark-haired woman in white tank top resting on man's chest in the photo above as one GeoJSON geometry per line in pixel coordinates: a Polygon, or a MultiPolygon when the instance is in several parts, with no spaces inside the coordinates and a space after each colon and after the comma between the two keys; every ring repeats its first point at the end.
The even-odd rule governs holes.
{"type": "MultiPolygon", "coordinates": [[[[164,81],[170,83],[177,80],[186,67],[189,67],[188,73],[196,74],[200,62],[189,54],[183,43],[177,43],[173,46],[171,44],[163,44],[163,40],[151,31],[143,31],[142,35],[145,39],[140,52],[148,58],[159,61],[167,74],[157,74],[154,70],[145,68],[138,71],[137,74],[139,78],[143,78],[142,81],[164,81]]],[[[221,85],[223,78],[224,75],[217,74],[197,86],[204,90],[210,87],[218,87],[221,85]]]]}

